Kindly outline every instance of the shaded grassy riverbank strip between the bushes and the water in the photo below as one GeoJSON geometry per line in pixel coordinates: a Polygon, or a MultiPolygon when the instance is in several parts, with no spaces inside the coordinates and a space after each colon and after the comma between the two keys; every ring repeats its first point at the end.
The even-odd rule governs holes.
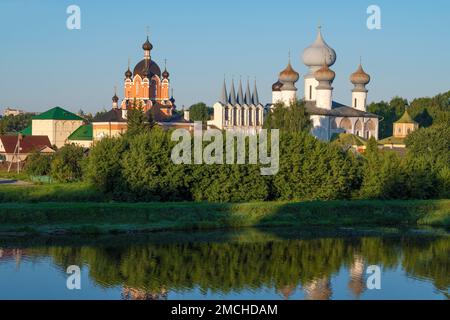
{"type": "Polygon", "coordinates": [[[126,233],[240,227],[450,227],[450,200],[301,203],[1,203],[0,232],[126,233]]]}

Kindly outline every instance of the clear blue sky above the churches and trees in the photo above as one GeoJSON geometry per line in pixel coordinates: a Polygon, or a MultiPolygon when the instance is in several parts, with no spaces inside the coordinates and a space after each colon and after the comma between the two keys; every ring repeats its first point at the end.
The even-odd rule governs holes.
{"type": "Polygon", "coordinates": [[[128,58],[133,66],[142,59],[147,26],[180,108],[214,103],[224,75],[256,77],[269,102],[289,50],[306,73],[300,57],[319,21],[338,56],[335,100],[350,104],[360,56],[372,76],[370,101],[432,96],[450,89],[448,12],[447,0],[1,0],[0,109],[110,108],[114,86],[123,96],[128,58]],[[66,28],[71,4],[81,8],[81,30],[66,28]],[[381,8],[381,30],[366,27],[371,4],[381,8]]]}

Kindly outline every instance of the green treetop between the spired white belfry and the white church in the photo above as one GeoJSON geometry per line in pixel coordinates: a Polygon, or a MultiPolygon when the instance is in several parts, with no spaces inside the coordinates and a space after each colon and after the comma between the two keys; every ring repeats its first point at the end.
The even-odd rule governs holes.
{"type": "Polygon", "coordinates": [[[306,112],[305,102],[297,100],[287,108],[278,103],[267,115],[264,123],[265,129],[280,129],[282,132],[292,133],[311,129],[311,120],[306,112]]]}

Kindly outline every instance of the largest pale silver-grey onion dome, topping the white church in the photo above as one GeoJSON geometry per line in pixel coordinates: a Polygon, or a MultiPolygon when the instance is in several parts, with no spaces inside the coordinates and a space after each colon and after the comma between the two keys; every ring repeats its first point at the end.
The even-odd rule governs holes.
{"type": "Polygon", "coordinates": [[[303,51],[303,63],[308,67],[320,67],[325,64],[331,67],[336,62],[336,52],[323,39],[319,27],[314,43],[303,51]]]}

